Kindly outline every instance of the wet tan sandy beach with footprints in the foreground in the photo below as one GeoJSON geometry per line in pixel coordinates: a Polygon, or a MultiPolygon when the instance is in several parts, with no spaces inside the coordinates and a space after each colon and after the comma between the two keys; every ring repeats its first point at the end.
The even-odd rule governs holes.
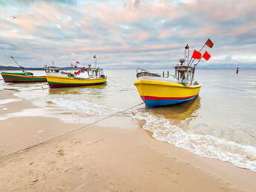
{"type": "MultiPolygon", "coordinates": [[[[1,101],[13,99],[0,105],[1,117],[39,109],[13,93],[0,91],[1,101]]],[[[109,118],[1,158],[0,191],[255,191],[255,172],[157,141],[143,123],[109,118]]],[[[1,118],[0,156],[86,124],[35,114],[1,118]]]]}

